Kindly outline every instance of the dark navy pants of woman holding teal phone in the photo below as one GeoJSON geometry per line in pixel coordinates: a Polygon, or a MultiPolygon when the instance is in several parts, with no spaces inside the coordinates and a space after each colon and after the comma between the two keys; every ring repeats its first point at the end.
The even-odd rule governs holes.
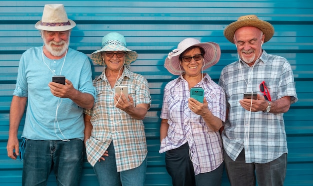
{"type": "Polygon", "coordinates": [[[220,186],[223,174],[222,163],[217,169],[194,175],[189,158],[188,143],[177,149],[166,151],[165,163],[167,173],[172,178],[173,186],[220,186]]]}

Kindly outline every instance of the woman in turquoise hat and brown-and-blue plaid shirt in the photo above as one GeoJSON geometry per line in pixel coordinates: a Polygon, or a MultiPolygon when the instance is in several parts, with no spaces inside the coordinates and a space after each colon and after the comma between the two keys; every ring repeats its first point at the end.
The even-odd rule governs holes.
{"type": "Polygon", "coordinates": [[[93,80],[94,106],[84,112],[87,160],[100,186],[143,186],[147,147],[142,119],[151,97],[147,80],[129,70],[137,53],[126,47],[123,35],[110,32],[90,57],[104,68],[93,80]]]}

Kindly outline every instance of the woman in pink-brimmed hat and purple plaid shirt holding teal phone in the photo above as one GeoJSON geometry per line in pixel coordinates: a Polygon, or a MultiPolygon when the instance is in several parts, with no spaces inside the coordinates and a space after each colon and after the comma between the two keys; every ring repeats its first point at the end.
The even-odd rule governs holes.
{"type": "Polygon", "coordinates": [[[186,38],[165,59],[165,68],[179,75],[164,88],[160,116],[159,153],[166,152],[166,170],[173,186],[221,185],[219,129],[225,120],[225,97],[223,90],[203,73],[219,57],[218,44],[186,38]],[[195,87],[204,90],[199,101],[189,96],[195,87]]]}

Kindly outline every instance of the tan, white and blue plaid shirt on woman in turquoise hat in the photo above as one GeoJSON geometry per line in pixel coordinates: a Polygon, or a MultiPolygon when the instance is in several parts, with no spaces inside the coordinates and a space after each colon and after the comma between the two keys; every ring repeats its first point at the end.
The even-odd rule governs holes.
{"type": "MultiPolygon", "coordinates": [[[[144,125],[142,120],[133,119],[114,106],[114,88],[110,88],[104,72],[93,80],[96,101],[91,110],[84,113],[91,116],[91,137],[86,141],[87,160],[94,166],[113,142],[117,172],[139,167],[147,155],[144,125]]],[[[127,68],[117,84],[126,85],[134,106],[151,103],[147,80],[127,68]]],[[[109,152],[108,152],[109,153],[109,152]]]]}

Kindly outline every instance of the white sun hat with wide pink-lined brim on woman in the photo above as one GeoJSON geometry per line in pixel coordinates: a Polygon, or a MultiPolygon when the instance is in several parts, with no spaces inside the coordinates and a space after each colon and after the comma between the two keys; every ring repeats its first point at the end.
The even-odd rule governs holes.
{"type": "Polygon", "coordinates": [[[217,43],[203,42],[194,38],[186,38],[182,40],[176,49],[169,52],[165,59],[164,67],[173,75],[180,75],[184,70],[180,67],[179,55],[191,46],[199,46],[204,49],[203,55],[204,65],[203,70],[216,64],[220,58],[220,48],[217,43]]]}

